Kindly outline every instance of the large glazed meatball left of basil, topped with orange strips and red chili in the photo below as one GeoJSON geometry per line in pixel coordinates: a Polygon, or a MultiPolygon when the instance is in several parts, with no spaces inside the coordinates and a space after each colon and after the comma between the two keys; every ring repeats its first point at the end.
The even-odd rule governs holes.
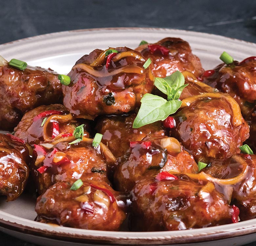
{"type": "Polygon", "coordinates": [[[126,47],[115,50],[118,53],[107,56],[108,50],[94,50],[69,72],[71,83],[62,86],[63,103],[76,117],[127,113],[139,107],[142,96],[153,90],[154,76],[150,68],[143,68],[144,57],[126,47]]]}

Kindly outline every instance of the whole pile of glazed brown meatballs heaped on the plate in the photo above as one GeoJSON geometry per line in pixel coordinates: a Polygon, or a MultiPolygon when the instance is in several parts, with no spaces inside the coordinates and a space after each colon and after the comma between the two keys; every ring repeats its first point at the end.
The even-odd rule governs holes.
{"type": "Polygon", "coordinates": [[[36,221],[91,230],[256,218],[256,155],[239,148],[256,151],[256,57],[204,71],[180,38],[109,49],[82,56],[68,85],[51,69],[1,59],[0,129],[10,133],[0,134],[0,195],[13,201],[35,187],[36,221]],[[144,94],[166,96],[155,77],[175,71],[188,84],[182,107],[133,128],[144,94]]]}

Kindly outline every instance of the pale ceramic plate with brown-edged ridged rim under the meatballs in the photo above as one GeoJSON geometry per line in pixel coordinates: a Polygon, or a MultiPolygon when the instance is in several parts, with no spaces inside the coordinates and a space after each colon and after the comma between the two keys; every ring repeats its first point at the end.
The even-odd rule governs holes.
{"type": "MultiPolygon", "coordinates": [[[[68,73],[82,55],[99,48],[136,48],[143,39],[156,42],[164,37],[189,42],[204,69],[220,63],[223,51],[236,60],[256,54],[256,44],[222,36],[156,28],[108,28],[50,33],[0,45],[0,55],[26,61],[32,66],[68,73]]],[[[170,232],[106,232],[53,226],[33,221],[35,197],[23,194],[14,202],[0,199],[0,230],[38,245],[243,245],[256,241],[256,219],[235,224],[170,232]]]]}

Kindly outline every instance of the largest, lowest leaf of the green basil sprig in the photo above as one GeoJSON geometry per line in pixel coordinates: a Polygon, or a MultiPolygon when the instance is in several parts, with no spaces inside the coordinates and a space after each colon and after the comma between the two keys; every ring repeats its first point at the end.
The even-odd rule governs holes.
{"type": "Polygon", "coordinates": [[[145,94],[140,102],[141,106],[133,122],[133,128],[139,128],[158,120],[165,120],[181,107],[181,101],[167,101],[160,96],[149,93],[145,94]]]}

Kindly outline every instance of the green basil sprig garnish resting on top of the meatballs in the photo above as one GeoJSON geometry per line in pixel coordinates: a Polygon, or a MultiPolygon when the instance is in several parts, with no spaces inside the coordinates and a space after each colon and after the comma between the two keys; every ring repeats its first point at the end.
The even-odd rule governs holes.
{"type": "Polygon", "coordinates": [[[178,100],[181,92],[188,85],[184,85],[184,83],[184,76],[179,71],[164,79],[156,78],[154,84],[167,95],[167,100],[146,93],[140,100],[141,106],[133,122],[133,128],[139,128],[158,120],[165,120],[170,114],[175,113],[181,107],[181,101],[178,100]]]}

